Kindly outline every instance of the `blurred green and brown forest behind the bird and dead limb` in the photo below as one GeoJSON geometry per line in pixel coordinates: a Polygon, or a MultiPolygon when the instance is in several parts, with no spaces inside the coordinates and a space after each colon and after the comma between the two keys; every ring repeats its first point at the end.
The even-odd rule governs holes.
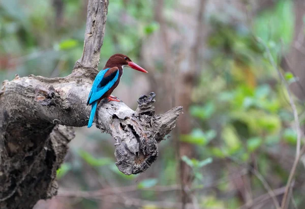
{"type": "MultiPolygon", "coordinates": [[[[69,75],[86,2],[0,0],[0,80],[69,75]]],[[[157,113],[182,105],[184,114],[157,161],[131,176],[116,168],[110,135],[77,128],[58,196],[35,208],[276,208],[298,124],[275,67],[303,130],[304,21],[303,0],[110,0],[99,69],[124,53],[149,72],[125,69],[113,95],[135,109],[155,92],[157,113]]],[[[304,208],[304,166],[301,157],[288,208],[304,208]]]]}

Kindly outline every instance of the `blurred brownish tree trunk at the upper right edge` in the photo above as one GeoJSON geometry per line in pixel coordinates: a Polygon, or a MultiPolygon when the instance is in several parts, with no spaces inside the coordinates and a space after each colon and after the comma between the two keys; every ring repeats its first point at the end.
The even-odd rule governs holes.
{"type": "Polygon", "coordinates": [[[305,37],[304,37],[304,16],[305,1],[294,1],[295,25],[294,37],[287,55],[283,59],[282,66],[289,72],[291,71],[299,78],[297,82],[291,84],[293,93],[301,100],[305,99],[305,37]]]}

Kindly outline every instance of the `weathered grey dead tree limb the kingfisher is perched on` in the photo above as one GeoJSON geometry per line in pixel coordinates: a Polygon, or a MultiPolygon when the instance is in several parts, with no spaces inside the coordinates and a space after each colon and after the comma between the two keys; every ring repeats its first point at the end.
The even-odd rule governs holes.
{"type": "MultiPolygon", "coordinates": [[[[4,81],[0,90],[0,208],[32,208],[57,193],[72,127],[86,126],[86,100],[98,71],[108,2],[88,1],[84,51],[64,78],[30,75],[4,81]]],[[[145,171],[158,156],[157,143],[175,127],[182,107],[156,115],[155,94],[141,96],[136,111],[102,101],[96,126],[116,140],[116,165],[125,174],[145,171]]]]}

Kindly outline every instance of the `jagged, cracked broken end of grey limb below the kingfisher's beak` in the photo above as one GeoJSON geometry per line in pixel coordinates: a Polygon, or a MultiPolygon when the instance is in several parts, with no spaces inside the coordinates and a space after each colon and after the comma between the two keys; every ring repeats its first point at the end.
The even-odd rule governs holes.
{"type": "Polygon", "coordinates": [[[152,106],[155,96],[155,93],[141,96],[136,111],[131,110],[124,103],[118,103],[121,105],[117,107],[112,103],[104,102],[103,109],[98,107],[99,119],[106,112],[111,115],[110,121],[103,120],[103,126],[98,122],[97,127],[103,130],[105,123],[111,123],[109,129],[105,131],[116,140],[117,162],[115,164],[127,175],[144,172],[156,161],[157,143],[175,127],[175,121],[182,111],[182,107],[175,107],[164,114],[155,115],[154,106],[152,106]],[[160,118],[167,118],[167,120],[164,120],[164,123],[160,121],[160,118]]]}

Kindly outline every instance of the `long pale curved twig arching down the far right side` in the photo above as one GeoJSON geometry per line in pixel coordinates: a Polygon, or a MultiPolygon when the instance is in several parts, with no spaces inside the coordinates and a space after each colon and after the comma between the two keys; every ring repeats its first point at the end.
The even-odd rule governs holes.
{"type": "Polygon", "coordinates": [[[282,204],[281,204],[281,207],[282,209],[285,209],[286,208],[286,204],[287,204],[287,196],[288,196],[288,193],[289,193],[289,188],[290,188],[290,184],[292,182],[292,178],[295,174],[295,170],[296,170],[296,167],[297,167],[297,164],[298,164],[298,161],[300,159],[300,148],[301,148],[301,129],[300,129],[300,123],[299,123],[299,118],[298,118],[298,113],[297,113],[297,109],[296,109],[296,106],[294,104],[294,101],[293,101],[293,98],[292,98],[292,94],[290,92],[290,89],[289,89],[289,85],[288,83],[286,82],[283,74],[281,73],[281,71],[279,70],[279,68],[277,67],[277,64],[276,62],[274,61],[271,53],[270,53],[270,50],[269,48],[267,47],[267,45],[260,39],[260,38],[257,38],[258,42],[261,43],[265,49],[266,49],[266,52],[268,54],[268,58],[269,58],[269,62],[270,64],[272,65],[272,67],[274,69],[277,70],[278,74],[279,74],[279,77],[281,78],[282,82],[284,83],[285,85],[285,88],[287,90],[287,93],[288,93],[288,97],[289,97],[289,102],[290,102],[290,106],[292,108],[292,111],[293,111],[293,115],[294,115],[294,121],[295,121],[295,125],[296,125],[296,135],[297,135],[297,139],[296,139],[296,154],[295,154],[295,159],[294,159],[294,162],[293,162],[293,165],[292,165],[292,168],[290,170],[290,173],[289,173],[289,177],[288,177],[288,181],[287,181],[287,184],[286,184],[286,189],[285,189],[285,193],[284,193],[284,196],[283,196],[283,199],[282,199],[282,204]]]}

